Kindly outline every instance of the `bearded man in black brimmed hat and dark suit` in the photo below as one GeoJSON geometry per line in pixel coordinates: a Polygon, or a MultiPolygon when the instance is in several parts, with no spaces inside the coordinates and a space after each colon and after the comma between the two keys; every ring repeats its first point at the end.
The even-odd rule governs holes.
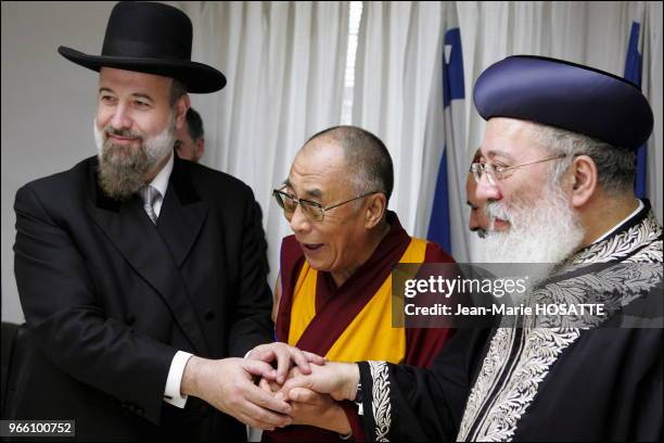
{"type": "Polygon", "coordinates": [[[251,189],[173,154],[188,92],[226,85],[191,61],[191,42],[178,9],[120,2],[101,55],[59,48],[99,72],[99,154],[16,194],[15,276],[33,346],[11,418],[73,419],[80,440],[243,440],[217,409],[288,425],[289,404],[252,378],[322,363],[261,344],[272,341],[271,295],[251,189]]]}

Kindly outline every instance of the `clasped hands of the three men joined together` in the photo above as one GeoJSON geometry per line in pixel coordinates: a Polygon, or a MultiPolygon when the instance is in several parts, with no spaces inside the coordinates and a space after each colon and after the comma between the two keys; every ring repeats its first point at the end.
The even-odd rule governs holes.
{"type": "Polygon", "coordinates": [[[358,382],[356,364],[276,342],[254,347],[246,358],[192,356],[180,390],[254,428],[309,425],[347,434],[350,425],[337,401],[355,400],[358,382]]]}

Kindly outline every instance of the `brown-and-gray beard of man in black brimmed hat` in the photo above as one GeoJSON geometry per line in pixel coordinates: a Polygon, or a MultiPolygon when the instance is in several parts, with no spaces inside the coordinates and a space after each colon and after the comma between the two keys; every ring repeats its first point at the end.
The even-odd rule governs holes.
{"type": "Polygon", "coordinates": [[[99,152],[99,186],[104,193],[116,200],[127,200],[144,183],[145,176],[173,152],[175,143],[175,116],[171,113],[168,126],[158,135],[145,138],[142,135],[138,148],[115,144],[104,131],[94,127],[94,141],[99,152]]]}

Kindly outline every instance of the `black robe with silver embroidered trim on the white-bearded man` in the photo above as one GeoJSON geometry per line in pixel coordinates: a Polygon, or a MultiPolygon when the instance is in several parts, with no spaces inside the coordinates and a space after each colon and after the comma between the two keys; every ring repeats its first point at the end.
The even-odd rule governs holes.
{"type": "Polygon", "coordinates": [[[534,292],[552,304],[605,302],[610,314],[596,316],[601,321],[461,328],[427,369],[362,362],[367,438],[661,442],[663,236],[643,203],[534,292]]]}

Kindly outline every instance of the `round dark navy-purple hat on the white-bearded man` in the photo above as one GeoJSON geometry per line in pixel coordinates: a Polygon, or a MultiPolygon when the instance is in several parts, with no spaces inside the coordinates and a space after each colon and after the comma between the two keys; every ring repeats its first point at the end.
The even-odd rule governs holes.
{"type": "Polygon", "coordinates": [[[639,88],[600,69],[536,55],[513,55],[482,73],[473,101],[484,119],[537,122],[637,149],[653,115],[639,88]]]}

